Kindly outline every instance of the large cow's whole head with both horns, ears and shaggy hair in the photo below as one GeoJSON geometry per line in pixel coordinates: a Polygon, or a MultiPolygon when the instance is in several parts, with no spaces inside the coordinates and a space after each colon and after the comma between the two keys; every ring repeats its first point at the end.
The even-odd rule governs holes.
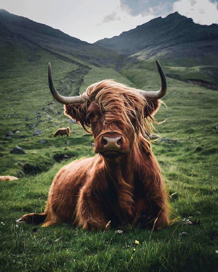
{"type": "Polygon", "coordinates": [[[166,76],[156,61],[161,76],[161,89],[147,92],[130,88],[113,80],[102,80],[90,85],[79,96],[60,95],[52,80],[48,65],[49,88],[54,99],[65,106],[65,114],[75,119],[87,131],[92,128],[94,151],[104,158],[114,159],[139,147],[140,136],[151,132],[153,115],[159,100],[166,93],[166,76]]]}

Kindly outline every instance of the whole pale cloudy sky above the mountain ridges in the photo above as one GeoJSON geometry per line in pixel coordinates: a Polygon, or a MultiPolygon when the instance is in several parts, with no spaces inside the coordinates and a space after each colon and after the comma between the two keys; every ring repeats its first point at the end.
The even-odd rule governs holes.
{"type": "Polygon", "coordinates": [[[0,0],[0,8],[93,43],[172,12],[218,23],[218,0],[0,0]]]}

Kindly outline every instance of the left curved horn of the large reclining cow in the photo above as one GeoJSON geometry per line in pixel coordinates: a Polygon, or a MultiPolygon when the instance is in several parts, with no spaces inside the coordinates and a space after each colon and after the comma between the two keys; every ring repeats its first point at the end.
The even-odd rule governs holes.
{"type": "Polygon", "coordinates": [[[48,63],[48,78],[49,78],[49,89],[50,92],[52,93],[52,96],[54,97],[54,99],[64,105],[70,105],[73,103],[84,103],[86,101],[86,98],[84,97],[84,95],[77,95],[77,96],[63,96],[60,95],[55,86],[54,86],[54,82],[52,79],[52,69],[51,69],[51,64],[50,62],[48,63]]]}

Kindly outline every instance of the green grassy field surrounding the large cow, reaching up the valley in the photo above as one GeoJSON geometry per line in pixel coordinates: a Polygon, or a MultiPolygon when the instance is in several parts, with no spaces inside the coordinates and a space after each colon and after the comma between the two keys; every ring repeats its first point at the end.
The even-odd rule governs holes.
{"type": "MultiPolygon", "coordinates": [[[[41,228],[15,223],[24,213],[44,211],[52,179],[63,165],[94,156],[92,137],[68,122],[60,104],[48,105],[52,101],[47,86],[48,61],[55,84],[65,95],[84,91],[104,78],[147,90],[158,90],[160,85],[155,63],[117,72],[37,50],[33,57],[39,57],[34,59],[32,51],[14,48],[8,66],[1,71],[0,174],[20,179],[0,183],[0,270],[217,271],[218,92],[171,78],[164,98],[167,107],[162,106],[156,115],[158,121],[166,119],[156,128],[169,140],[155,143],[153,152],[169,194],[175,193],[170,204],[177,218],[174,224],[153,232],[131,226],[90,232],[67,224],[41,228]],[[91,69],[86,71],[85,65],[91,69]],[[31,129],[35,123],[38,125],[31,129]],[[69,138],[52,137],[57,128],[65,126],[70,127],[69,138]],[[5,140],[6,132],[15,129],[20,133],[5,140]],[[33,136],[35,129],[41,129],[42,134],[33,136]],[[46,143],[41,143],[43,139],[46,143]],[[10,154],[16,145],[26,154],[10,154]],[[56,163],[54,155],[59,153],[72,158],[56,163]]],[[[176,73],[182,69],[177,67],[176,73]]]]}

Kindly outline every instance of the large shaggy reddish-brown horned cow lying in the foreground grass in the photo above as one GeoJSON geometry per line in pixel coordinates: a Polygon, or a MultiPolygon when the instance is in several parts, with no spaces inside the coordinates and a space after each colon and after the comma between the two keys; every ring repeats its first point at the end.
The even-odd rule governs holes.
{"type": "Polygon", "coordinates": [[[50,63],[49,88],[65,104],[65,114],[94,137],[92,158],[73,161],[54,178],[45,212],[18,219],[28,223],[73,223],[105,229],[122,223],[150,228],[169,224],[167,196],[147,134],[166,93],[164,72],[156,61],[161,89],[146,92],[113,80],[90,85],[81,96],[64,97],[54,87],[50,63]]]}

